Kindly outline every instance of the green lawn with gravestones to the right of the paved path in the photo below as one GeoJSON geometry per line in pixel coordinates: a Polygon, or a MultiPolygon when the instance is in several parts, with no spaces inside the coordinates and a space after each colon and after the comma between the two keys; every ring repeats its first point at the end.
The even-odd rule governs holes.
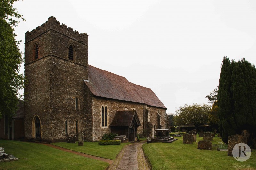
{"type": "MultiPolygon", "coordinates": [[[[183,144],[182,137],[172,143],[150,143],[143,144],[142,148],[148,157],[153,170],[158,169],[239,169],[233,165],[248,165],[251,169],[256,168],[256,150],[252,150],[251,157],[244,162],[236,161],[227,156],[227,151],[217,151],[217,144],[221,141],[215,137],[212,142],[212,151],[197,149],[197,142],[203,137],[197,135],[197,142],[183,144]]],[[[243,169],[243,168],[242,168],[243,169]]]]}

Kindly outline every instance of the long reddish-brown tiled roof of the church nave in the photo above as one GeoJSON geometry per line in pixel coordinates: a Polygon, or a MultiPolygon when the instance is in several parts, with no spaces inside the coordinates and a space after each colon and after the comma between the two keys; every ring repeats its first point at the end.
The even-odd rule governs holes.
{"type": "Polygon", "coordinates": [[[165,108],[156,94],[146,87],[133,84],[125,77],[88,66],[88,81],[84,81],[94,96],[147,104],[165,108]]]}

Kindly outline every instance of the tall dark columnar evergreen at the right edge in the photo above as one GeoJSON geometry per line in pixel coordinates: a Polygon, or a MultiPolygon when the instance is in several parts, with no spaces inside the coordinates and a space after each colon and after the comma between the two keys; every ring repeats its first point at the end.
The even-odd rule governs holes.
{"type": "Polygon", "coordinates": [[[230,62],[229,58],[224,57],[217,95],[219,130],[223,142],[227,142],[230,135],[241,134],[242,130],[249,130],[250,139],[253,138],[256,129],[255,96],[255,66],[245,58],[230,62]]]}

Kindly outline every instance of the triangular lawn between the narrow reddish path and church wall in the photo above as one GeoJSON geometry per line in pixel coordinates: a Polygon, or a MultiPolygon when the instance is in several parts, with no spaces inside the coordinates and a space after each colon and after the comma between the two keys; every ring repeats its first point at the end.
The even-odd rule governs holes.
{"type": "Polygon", "coordinates": [[[121,143],[120,145],[99,145],[98,142],[84,142],[84,146],[78,146],[78,143],[66,143],[66,142],[58,142],[52,143],[54,145],[71,149],[73,151],[86,153],[88,155],[98,156],[101,158],[107,158],[114,160],[116,156],[121,151],[121,149],[127,145],[131,144],[130,142],[121,143]]]}

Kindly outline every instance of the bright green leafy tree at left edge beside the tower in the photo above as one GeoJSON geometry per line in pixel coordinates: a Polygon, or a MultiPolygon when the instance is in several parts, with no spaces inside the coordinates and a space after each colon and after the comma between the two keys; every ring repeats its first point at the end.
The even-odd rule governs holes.
{"type": "MultiPolygon", "coordinates": [[[[13,8],[17,0],[3,0],[0,2],[0,118],[2,114],[14,114],[18,100],[21,98],[18,91],[23,88],[24,77],[18,74],[23,62],[15,40],[14,28],[23,19],[13,8]]],[[[24,20],[24,19],[23,19],[24,20]]]]}

